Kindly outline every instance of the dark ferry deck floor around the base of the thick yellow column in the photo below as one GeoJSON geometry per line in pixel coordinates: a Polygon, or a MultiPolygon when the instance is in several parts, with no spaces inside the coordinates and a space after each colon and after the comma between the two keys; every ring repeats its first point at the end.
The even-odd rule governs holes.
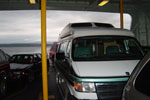
{"type": "MultiPolygon", "coordinates": [[[[0,100],[42,100],[42,79],[39,77],[30,84],[22,81],[9,83],[8,94],[0,100]]],[[[49,100],[62,100],[55,81],[55,71],[48,72],[48,98],[49,100]]]]}

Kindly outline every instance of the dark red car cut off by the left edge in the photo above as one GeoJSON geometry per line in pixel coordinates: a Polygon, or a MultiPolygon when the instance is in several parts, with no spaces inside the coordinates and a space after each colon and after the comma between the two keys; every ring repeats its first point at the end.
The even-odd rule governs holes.
{"type": "Polygon", "coordinates": [[[6,94],[9,78],[10,64],[4,51],[0,49],[0,96],[6,94]]]}

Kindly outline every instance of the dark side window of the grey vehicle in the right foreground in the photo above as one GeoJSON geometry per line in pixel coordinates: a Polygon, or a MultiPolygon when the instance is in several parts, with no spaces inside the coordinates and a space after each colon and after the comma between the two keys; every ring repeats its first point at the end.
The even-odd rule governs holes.
{"type": "Polygon", "coordinates": [[[146,94],[150,96],[150,61],[148,61],[147,64],[143,67],[140,74],[137,76],[135,80],[135,88],[142,92],[143,94],[146,94]]]}

